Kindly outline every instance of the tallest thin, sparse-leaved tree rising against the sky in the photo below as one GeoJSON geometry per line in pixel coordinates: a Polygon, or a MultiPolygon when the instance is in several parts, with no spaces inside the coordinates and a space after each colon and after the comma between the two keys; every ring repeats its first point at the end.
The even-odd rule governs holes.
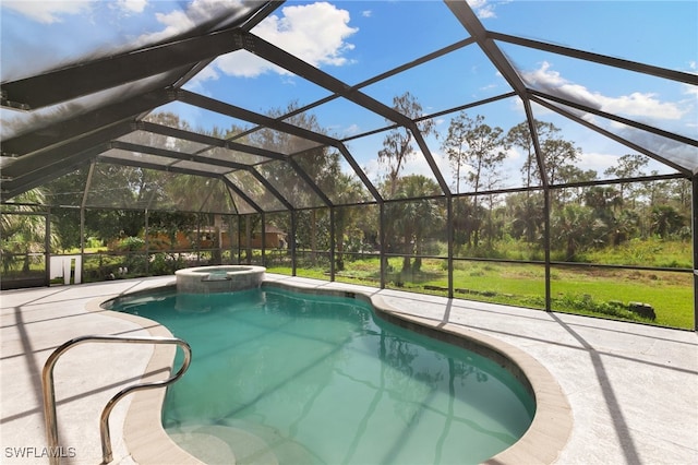
{"type": "MultiPolygon", "coordinates": [[[[406,92],[405,94],[393,98],[393,108],[414,120],[422,116],[422,106],[417,98],[406,92]]],[[[389,121],[392,122],[392,121],[389,121]]],[[[417,128],[426,136],[433,131],[434,122],[432,120],[420,121],[417,128]]],[[[383,148],[378,151],[378,162],[386,165],[388,169],[388,194],[390,198],[395,195],[397,182],[400,171],[405,168],[405,164],[414,155],[412,140],[414,134],[409,128],[398,127],[389,131],[383,140],[383,148]]]]}

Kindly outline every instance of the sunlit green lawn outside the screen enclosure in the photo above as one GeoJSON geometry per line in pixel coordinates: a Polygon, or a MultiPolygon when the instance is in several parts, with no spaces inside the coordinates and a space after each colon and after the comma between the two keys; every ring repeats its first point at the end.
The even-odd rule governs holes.
{"type": "MultiPolygon", "coordinates": [[[[446,295],[445,260],[424,259],[419,272],[400,273],[401,259],[390,259],[387,287],[423,294],[446,295]]],[[[336,279],[380,285],[378,259],[345,262],[336,279]]],[[[290,267],[269,267],[270,273],[291,274],[290,267]]],[[[542,309],[545,305],[542,265],[492,262],[456,262],[455,297],[542,309]]],[[[298,276],[328,281],[327,270],[299,269],[298,276]]],[[[554,267],[551,272],[552,307],[555,311],[601,318],[640,321],[662,326],[693,329],[693,275],[690,273],[640,272],[554,267]],[[627,310],[630,302],[649,303],[655,320],[627,310]]]]}

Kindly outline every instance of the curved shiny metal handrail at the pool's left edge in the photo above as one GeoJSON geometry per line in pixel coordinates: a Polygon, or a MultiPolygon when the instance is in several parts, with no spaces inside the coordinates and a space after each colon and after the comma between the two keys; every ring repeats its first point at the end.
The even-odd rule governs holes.
{"type": "Polygon", "coordinates": [[[104,410],[101,410],[101,416],[99,418],[99,433],[101,437],[101,456],[103,463],[107,464],[113,460],[112,451],[111,451],[111,438],[109,434],[109,414],[116,406],[117,402],[119,402],[127,394],[130,394],[135,391],[154,389],[154,388],[165,388],[174,381],[179,380],[186,369],[189,368],[189,363],[192,359],[192,348],[190,345],[180,338],[177,337],[129,337],[129,336],[81,336],[70,339],[63,343],[60,347],[58,347],[53,353],[48,357],[46,363],[44,365],[44,371],[41,373],[41,384],[44,388],[44,417],[46,419],[46,438],[48,440],[48,451],[49,451],[49,461],[51,465],[58,465],[60,463],[60,455],[62,453],[57,453],[61,451],[58,445],[58,421],[56,416],[56,393],[53,390],[53,366],[58,361],[59,357],[63,355],[70,348],[83,344],[83,343],[130,343],[130,344],[176,344],[182,347],[184,351],[184,361],[182,362],[179,371],[173,375],[163,381],[155,381],[149,383],[141,383],[134,384],[123,390],[119,391],[113,397],[109,400],[104,410]]]}

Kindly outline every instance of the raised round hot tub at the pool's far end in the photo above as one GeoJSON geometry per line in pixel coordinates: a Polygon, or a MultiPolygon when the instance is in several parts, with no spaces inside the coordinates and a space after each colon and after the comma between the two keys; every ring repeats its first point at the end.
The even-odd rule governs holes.
{"type": "Polygon", "coordinates": [[[179,293],[209,294],[260,287],[265,272],[264,266],[217,265],[178,270],[174,275],[179,293]]]}

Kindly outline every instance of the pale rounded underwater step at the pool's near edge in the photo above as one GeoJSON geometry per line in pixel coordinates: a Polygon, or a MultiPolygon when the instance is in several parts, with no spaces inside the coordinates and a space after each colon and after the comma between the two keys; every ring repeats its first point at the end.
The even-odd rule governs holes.
{"type": "Polygon", "coordinates": [[[208,465],[278,465],[269,446],[258,437],[221,425],[189,426],[167,433],[183,450],[208,465]]]}

